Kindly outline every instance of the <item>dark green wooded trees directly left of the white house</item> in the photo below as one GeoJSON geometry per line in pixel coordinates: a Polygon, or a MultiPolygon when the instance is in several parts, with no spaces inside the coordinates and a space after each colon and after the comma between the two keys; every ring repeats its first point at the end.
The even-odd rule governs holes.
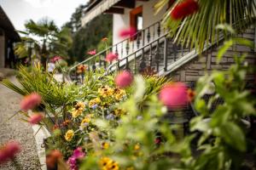
{"type": "Polygon", "coordinates": [[[91,49],[102,50],[99,44],[103,37],[108,37],[108,42],[112,43],[112,15],[99,15],[86,26],[81,26],[82,14],[89,4],[80,5],[72,14],[70,21],[64,25],[73,31],[73,45],[69,50],[71,63],[84,60],[91,49]]]}

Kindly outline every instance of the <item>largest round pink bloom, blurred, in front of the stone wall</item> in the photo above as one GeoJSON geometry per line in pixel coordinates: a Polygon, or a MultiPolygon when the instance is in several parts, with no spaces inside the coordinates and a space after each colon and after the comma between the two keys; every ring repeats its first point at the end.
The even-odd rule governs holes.
{"type": "Polygon", "coordinates": [[[173,82],[160,90],[160,101],[169,108],[177,108],[188,103],[188,88],[183,82],[173,82]]]}

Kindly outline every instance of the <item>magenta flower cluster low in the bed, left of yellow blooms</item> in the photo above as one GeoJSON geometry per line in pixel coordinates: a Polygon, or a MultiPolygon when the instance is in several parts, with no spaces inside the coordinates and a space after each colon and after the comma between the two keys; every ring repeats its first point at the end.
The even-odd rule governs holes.
{"type": "Polygon", "coordinates": [[[69,165],[70,170],[77,170],[77,161],[79,159],[83,159],[85,156],[85,153],[83,152],[82,147],[78,147],[76,150],[73,150],[73,155],[70,156],[67,160],[67,164],[69,165]]]}

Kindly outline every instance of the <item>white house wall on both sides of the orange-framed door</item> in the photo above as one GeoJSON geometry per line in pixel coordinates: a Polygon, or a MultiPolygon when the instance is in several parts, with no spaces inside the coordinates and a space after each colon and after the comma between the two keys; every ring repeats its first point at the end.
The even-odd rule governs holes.
{"type": "MultiPolygon", "coordinates": [[[[157,2],[159,0],[149,0],[148,2],[136,1],[136,7],[143,5],[143,28],[163,18],[166,8],[163,8],[159,14],[154,14],[154,4],[157,2]]],[[[119,30],[130,26],[130,11],[130,8],[125,8],[125,14],[113,14],[113,44],[122,41],[118,36],[119,30]]]]}

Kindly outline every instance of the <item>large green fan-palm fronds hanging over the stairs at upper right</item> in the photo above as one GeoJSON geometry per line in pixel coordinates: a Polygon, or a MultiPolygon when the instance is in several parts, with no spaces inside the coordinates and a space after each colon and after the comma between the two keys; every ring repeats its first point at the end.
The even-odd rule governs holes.
{"type": "Polygon", "coordinates": [[[165,26],[170,29],[170,35],[175,41],[200,50],[207,43],[215,42],[219,37],[219,29],[216,29],[216,26],[222,25],[219,27],[231,28],[236,24],[236,31],[239,32],[246,28],[247,24],[253,23],[253,18],[256,16],[254,0],[160,0],[155,7],[159,10],[166,3],[172,3],[163,21],[165,26]],[[189,5],[191,2],[197,3],[198,8],[191,8],[189,5]],[[177,11],[177,6],[182,3],[183,8],[186,3],[188,4],[187,9],[177,11]],[[174,13],[184,14],[184,11],[188,12],[190,9],[192,12],[196,10],[195,14],[189,14],[179,19],[173,18],[174,13]]]}

